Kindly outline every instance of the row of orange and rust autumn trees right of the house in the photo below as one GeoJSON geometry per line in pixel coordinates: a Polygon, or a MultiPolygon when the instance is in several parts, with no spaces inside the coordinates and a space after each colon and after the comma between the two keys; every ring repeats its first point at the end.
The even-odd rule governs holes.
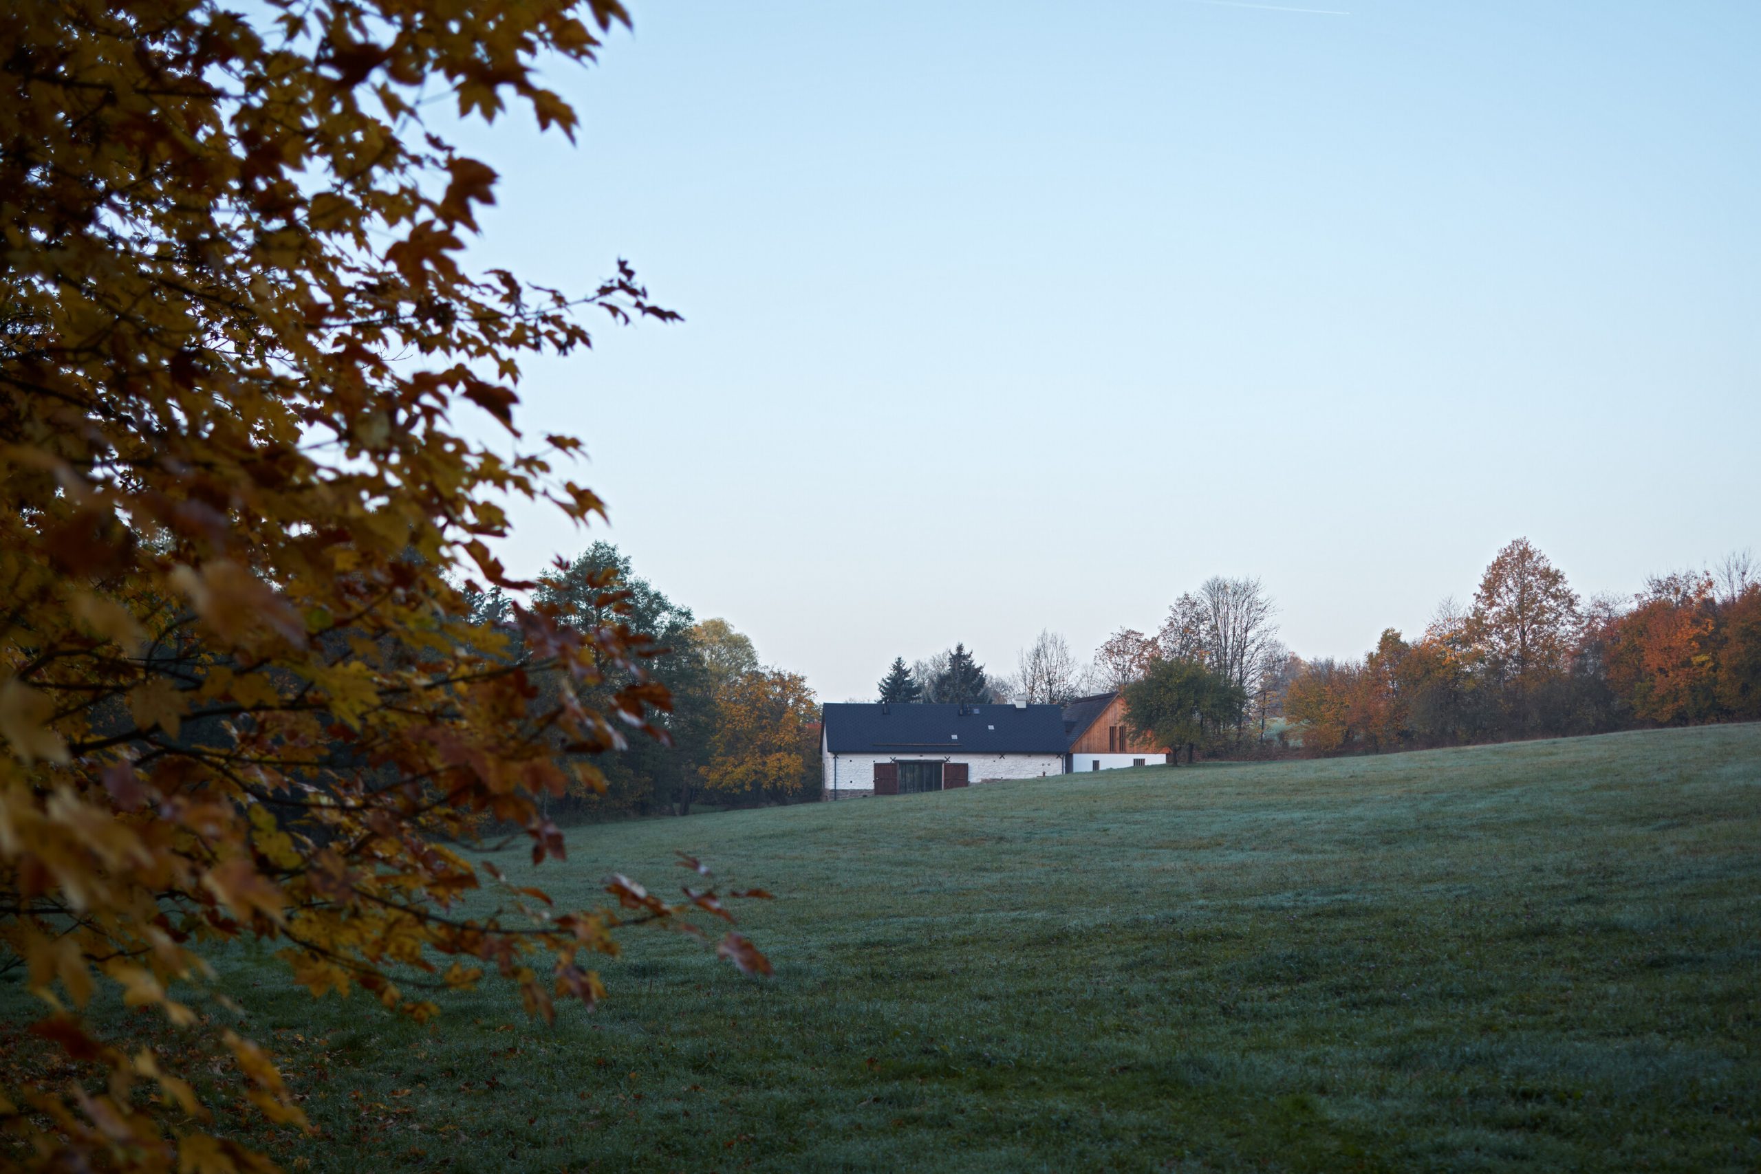
{"type": "Polygon", "coordinates": [[[1284,711],[1319,753],[1756,720],[1761,583],[1738,554],[1583,602],[1518,539],[1419,639],[1388,628],[1361,660],[1300,664],[1284,711]]]}

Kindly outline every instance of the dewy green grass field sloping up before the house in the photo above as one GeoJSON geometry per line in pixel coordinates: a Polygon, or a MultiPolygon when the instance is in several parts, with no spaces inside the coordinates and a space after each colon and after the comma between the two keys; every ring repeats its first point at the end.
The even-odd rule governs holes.
{"type": "Polygon", "coordinates": [[[417,1028],[229,961],[324,1130],[282,1160],[1761,1169],[1761,725],[588,827],[539,873],[674,848],[778,894],[775,979],[636,935],[597,1014],[417,1028]]]}

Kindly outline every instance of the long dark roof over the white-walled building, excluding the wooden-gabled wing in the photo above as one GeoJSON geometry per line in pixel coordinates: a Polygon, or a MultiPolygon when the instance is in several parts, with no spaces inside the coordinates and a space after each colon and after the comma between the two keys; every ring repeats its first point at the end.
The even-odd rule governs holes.
{"type": "Polygon", "coordinates": [[[1064,753],[1067,743],[1058,706],[833,702],[824,718],[831,753],[1064,753]]]}

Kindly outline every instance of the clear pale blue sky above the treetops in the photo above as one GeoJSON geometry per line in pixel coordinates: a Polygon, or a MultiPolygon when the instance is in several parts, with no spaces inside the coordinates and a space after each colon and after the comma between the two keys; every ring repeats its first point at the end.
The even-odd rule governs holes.
{"type": "Polygon", "coordinates": [[[486,262],[687,317],[528,368],[613,525],[521,570],[608,537],[842,701],[1212,574],[1317,657],[1518,535],[1761,554],[1754,0],[632,9],[578,148],[467,136],[486,262]]]}

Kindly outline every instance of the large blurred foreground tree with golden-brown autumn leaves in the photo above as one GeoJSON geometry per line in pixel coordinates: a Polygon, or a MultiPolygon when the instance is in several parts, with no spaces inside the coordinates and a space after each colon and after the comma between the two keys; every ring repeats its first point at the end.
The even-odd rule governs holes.
{"type": "MultiPolygon", "coordinates": [[[[211,1047],[203,1067],[236,1075],[217,1097],[298,1126],[269,1056],[199,1014],[227,942],[414,1019],[484,970],[551,1016],[602,994],[592,958],[620,924],[727,914],[616,875],[601,908],[460,906],[498,884],[456,847],[484,820],[562,855],[541,797],[597,776],[558,743],[664,736],[618,584],[586,593],[604,623],[572,625],[572,604],[516,605],[535,584],[488,544],[507,498],[602,512],[560,465],[574,438],[518,429],[521,363],[579,354],[581,312],[676,315],[622,264],[583,294],[467,269],[497,176],[423,111],[523,107],[572,136],[535,67],[592,62],[623,19],[616,0],[0,11],[0,945],[81,1074],[0,1075],[25,1144],[7,1165],[262,1165],[213,1132],[231,1104],[81,1017],[97,984],[211,1047]],[[467,408],[502,438],[472,438],[467,408]],[[551,674],[602,683],[602,708],[541,695],[551,674]]],[[[720,952],[764,968],[738,935],[720,952]]]]}

